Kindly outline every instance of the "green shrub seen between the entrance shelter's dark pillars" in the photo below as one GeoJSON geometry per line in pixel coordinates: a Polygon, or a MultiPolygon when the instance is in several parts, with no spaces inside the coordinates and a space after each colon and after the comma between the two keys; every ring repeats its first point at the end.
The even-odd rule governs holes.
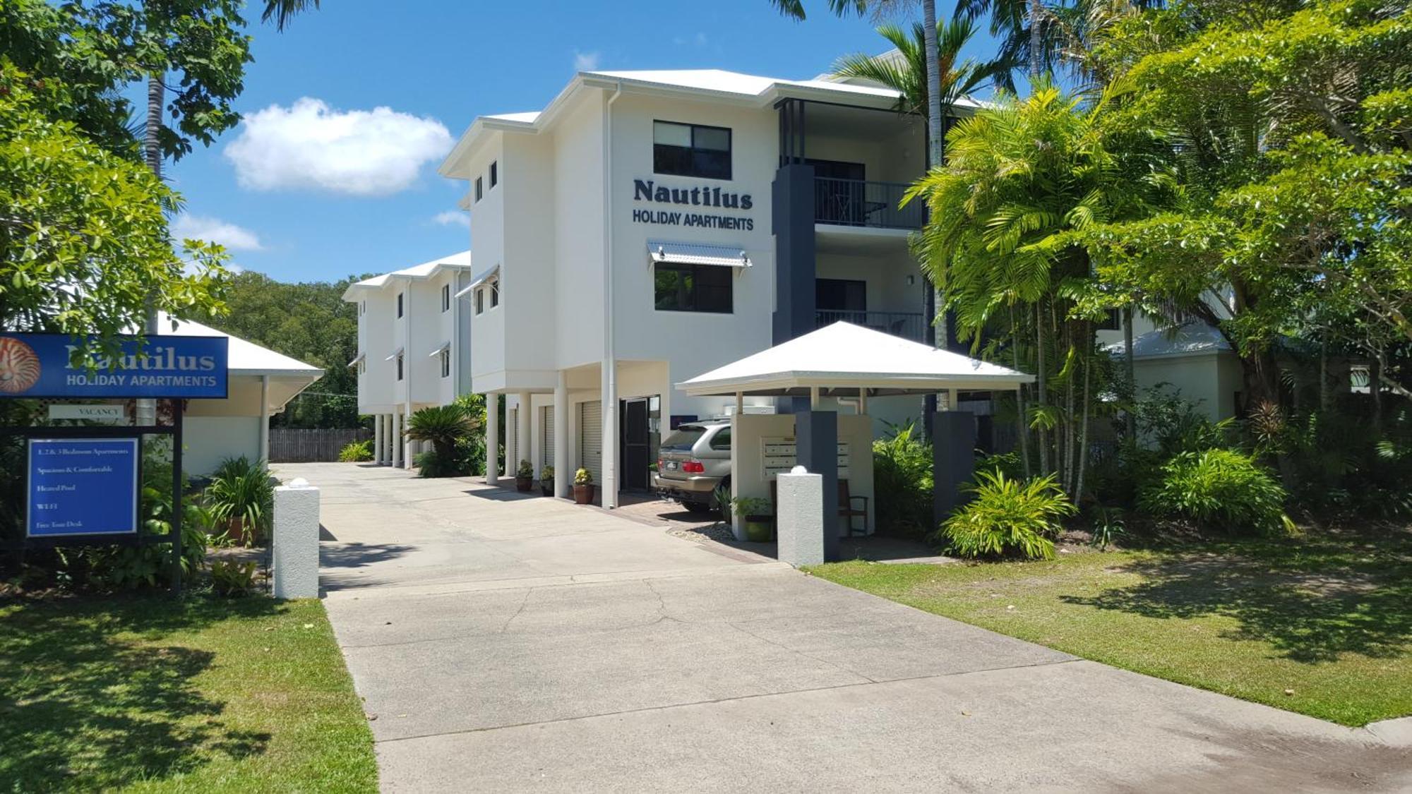
{"type": "Polygon", "coordinates": [[[921,435],[907,422],[873,442],[878,534],[921,540],[932,526],[932,445],[921,435]]]}

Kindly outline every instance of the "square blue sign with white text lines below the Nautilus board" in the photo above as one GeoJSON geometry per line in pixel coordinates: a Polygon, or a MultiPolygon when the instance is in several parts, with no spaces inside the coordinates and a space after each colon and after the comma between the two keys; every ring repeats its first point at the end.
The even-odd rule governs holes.
{"type": "Polygon", "coordinates": [[[137,441],[31,438],[25,534],[136,534],[137,441]]]}

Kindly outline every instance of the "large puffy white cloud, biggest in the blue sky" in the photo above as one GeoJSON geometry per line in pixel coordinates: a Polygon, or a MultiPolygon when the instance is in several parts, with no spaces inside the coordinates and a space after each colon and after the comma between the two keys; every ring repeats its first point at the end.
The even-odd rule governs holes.
{"type": "Polygon", "coordinates": [[[452,143],[435,119],[391,107],[335,110],[305,96],[246,116],[225,155],[243,188],[381,196],[409,188],[452,143]]]}

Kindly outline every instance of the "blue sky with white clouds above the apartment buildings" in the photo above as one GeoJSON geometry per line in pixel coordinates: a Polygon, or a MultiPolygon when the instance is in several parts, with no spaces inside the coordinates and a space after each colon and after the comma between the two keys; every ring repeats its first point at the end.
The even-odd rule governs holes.
{"type": "Polygon", "coordinates": [[[282,34],[253,24],[246,122],[168,165],[186,199],[174,232],[223,242],[236,264],[281,281],[465,250],[466,186],[435,170],[476,116],[537,110],[575,69],[798,79],[840,54],[885,49],[871,21],[806,6],[810,18],[794,23],[767,0],[325,0],[282,34]]]}

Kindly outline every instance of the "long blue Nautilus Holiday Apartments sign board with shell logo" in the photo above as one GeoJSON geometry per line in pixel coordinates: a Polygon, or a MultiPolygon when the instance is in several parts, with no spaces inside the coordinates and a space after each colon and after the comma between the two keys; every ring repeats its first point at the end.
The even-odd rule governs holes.
{"type": "Polygon", "coordinates": [[[92,370],[72,363],[82,343],[64,333],[0,333],[0,397],[226,397],[227,336],[127,338],[92,370]]]}

